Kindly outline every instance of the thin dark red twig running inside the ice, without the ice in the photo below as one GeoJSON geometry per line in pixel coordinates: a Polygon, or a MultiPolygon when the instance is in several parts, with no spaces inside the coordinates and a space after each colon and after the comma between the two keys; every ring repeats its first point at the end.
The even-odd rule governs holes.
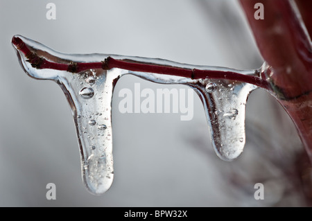
{"type": "Polygon", "coordinates": [[[12,44],[14,44],[21,53],[24,53],[27,61],[31,63],[32,67],[36,69],[55,69],[60,71],[69,71],[71,73],[79,73],[87,69],[125,69],[128,71],[140,71],[147,73],[159,73],[171,76],[179,76],[191,79],[226,79],[238,80],[241,82],[248,82],[252,85],[257,85],[264,89],[270,90],[270,85],[266,80],[257,76],[248,76],[234,71],[214,71],[214,70],[201,70],[201,69],[184,69],[180,67],[172,67],[160,64],[150,64],[144,62],[137,62],[135,60],[116,60],[114,58],[105,58],[102,62],[71,62],[69,64],[55,63],[39,57],[36,53],[32,52],[28,46],[19,38],[13,37],[12,44]]]}

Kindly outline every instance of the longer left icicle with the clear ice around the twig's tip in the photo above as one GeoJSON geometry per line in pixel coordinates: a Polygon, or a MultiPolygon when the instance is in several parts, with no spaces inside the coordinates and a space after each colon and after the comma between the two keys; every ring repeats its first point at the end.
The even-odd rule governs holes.
{"type": "MultiPolygon", "coordinates": [[[[74,60],[70,55],[66,57],[42,44],[19,37],[38,55],[46,56],[46,59],[61,63],[74,60]]],[[[85,186],[95,195],[105,193],[112,185],[114,177],[111,103],[114,80],[118,78],[120,70],[96,69],[70,73],[53,69],[35,69],[26,61],[27,58],[23,53],[19,52],[18,55],[22,67],[29,76],[58,82],[64,91],[76,125],[85,186]]],[[[88,60],[90,56],[75,58],[88,60]]]]}

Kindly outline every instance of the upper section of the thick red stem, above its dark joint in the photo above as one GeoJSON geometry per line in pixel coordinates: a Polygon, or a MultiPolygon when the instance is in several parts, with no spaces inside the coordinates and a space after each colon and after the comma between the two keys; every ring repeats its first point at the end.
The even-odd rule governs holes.
{"type": "Polygon", "coordinates": [[[241,5],[261,55],[273,68],[271,81],[290,98],[311,91],[311,42],[290,1],[241,0],[241,5]],[[259,2],[263,3],[263,20],[254,19],[254,4],[259,2]]]}

